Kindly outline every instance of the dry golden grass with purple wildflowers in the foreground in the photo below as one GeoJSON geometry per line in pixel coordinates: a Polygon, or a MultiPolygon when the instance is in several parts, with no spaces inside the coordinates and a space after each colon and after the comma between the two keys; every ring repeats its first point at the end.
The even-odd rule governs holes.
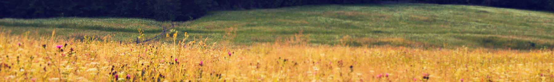
{"type": "Polygon", "coordinates": [[[554,81],[553,50],[203,40],[136,45],[0,32],[0,81],[554,81]]]}

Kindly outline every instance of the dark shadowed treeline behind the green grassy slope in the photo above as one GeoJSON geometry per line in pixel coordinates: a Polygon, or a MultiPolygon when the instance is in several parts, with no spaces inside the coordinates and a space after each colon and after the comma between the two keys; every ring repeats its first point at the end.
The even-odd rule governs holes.
{"type": "MultiPolygon", "coordinates": [[[[279,8],[316,4],[357,4],[396,0],[4,0],[0,18],[139,17],[191,20],[210,10],[279,8]]],[[[554,0],[398,0],[438,4],[554,10],[554,0]]]]}

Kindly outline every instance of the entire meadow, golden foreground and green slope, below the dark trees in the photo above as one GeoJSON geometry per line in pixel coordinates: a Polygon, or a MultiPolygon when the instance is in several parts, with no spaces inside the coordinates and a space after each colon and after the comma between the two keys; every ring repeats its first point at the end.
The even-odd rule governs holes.
{"type": "Polygon", "coordinates": [[[0,81],[554,81],[553,18],[404,3],[0,19],[0,81]]]}

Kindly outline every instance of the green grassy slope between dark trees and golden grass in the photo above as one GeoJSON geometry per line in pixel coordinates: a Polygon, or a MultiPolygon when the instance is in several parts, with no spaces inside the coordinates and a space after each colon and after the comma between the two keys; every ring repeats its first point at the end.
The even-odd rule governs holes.
{"type": "MultiPolygon", "coordinates": [[[[0,19],[12,34],[53,29],[63,37],[114,35],[130,42],[137,29],[148,37],[168,22],[136,18],[0,19]]],[[[507,8],[438,4],[359,4],[299,6],[211,12],[203,18],[178,22],[178,31],[210,41],[238,45],[274,42],[303,30],[313,45],[335,45],[345,39],[353,46],[484,47],[534,49],[554,47],[554,13],[507,8]],[[234,38],[224,37],[235,28],[234,38]],[[348,36],[350,38],[343,38],[348,36]]],[[[182,35],[182,34],[179,34],[182,35]]],[[[182,36],[179,36],[182,37],[182,36]]],[[[170,40],[170,39],[166,39],[170,40]]]]}

